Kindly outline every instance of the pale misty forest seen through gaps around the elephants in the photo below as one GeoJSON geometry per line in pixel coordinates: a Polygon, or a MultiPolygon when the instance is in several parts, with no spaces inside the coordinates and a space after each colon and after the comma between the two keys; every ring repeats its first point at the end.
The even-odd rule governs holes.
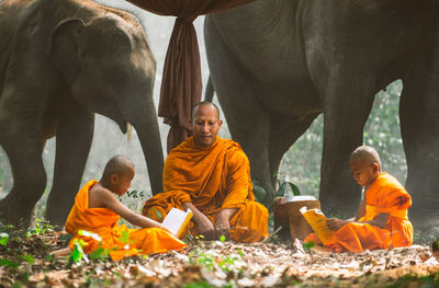
{"type": "MultiPolygon", "coordinates": [[[[144,25],[148,43],[157,61],[156,83],[154,89],[154,99],[157,108],[161,73],[175,18],[151,14],[126,1],[98,0],[97,2],[130,11],[134,13],[144,25]]],[[[204,47],[203,24],[204,16],[200,16],[194,21],[200,45],[202,79],[205,84],[209,78],[209,67],[204,47]]],[[[372,146],[378,150],[384,171],[396,176],[399,182],[405,183],[407,166],[401,139],[398,117],[398,103],[402,88],[402,81],[395,81],[386,88],[386,91],[381,91],[376,94],[372,112],[364,128],[364,145],[372,146]]],[[[203,87],[203,95],[204,89],[205,87],[203,87]]],[[[217,103],[216,97],[214,102],[217,103]]],[[[224,119],[224,114],[222,115],[224,119]]],[[[296,141],[282,160],[279,174],[280,181],[294,183],[303,195],[318,196],[323,147],[323,117],[324,116],[320,115],[316,118],[309,129],[296,141]]],[[[166,138],[169,127],[162,124],[161,118],[159,118],[159,126],[161,143],[164,151],[166,151],[166,138]]],[[[223,138],[230,138],[226,123],[223,125],[219,136],[223,138]]],[[[43,161],[47,172],[47,186],[44,196],[37,205],[37,218],[43,218],[47,194],[52,187],[55,149],[55,138],[53,138],[47,141],[43,152],[43,161]]],[[[127,136],[121,133],[114,122],[101,115],[97,115],[94,138],[81,185],[91,178],[99,180],[106,161],[114,154],[124,154],[132,159],[136,165],[136,176],[131,189],[138,193],[136,197],[127,197],[125,200],[128,201],[128,206],[132,209],[139,211],[143,201],[151,196],[151,192],[145,158],[137,135],[133,129],[132,140],[128,141],[127,136]],[[142,200],[139,200],[139,198],[142,200]]],[[[0,198],[9,193],[12,187],[12,182],[8,157],[0,148],[0,198]]],[[[133,196],[133,194],[131,194],[131,196],[133,196]]]]}

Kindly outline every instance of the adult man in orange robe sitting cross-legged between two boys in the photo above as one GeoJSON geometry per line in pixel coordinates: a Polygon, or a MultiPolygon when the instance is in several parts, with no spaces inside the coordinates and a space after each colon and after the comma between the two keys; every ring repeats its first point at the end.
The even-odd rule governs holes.
{"type": "Polygon", "coordinates": [[[268,210],[255,201],[249,161],[239,145],[217,137],[222,124],[216,105],[195,105],[193,136],[169,152],[164,193],[145,203],[143,215],[162,221],[172,207],[189,208],[192,235],[257,242],[268,237],[268,210]]]}

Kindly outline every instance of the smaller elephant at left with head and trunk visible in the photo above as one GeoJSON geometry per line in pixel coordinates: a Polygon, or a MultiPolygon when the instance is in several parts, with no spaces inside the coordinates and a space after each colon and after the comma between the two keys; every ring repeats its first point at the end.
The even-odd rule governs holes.
{"type": "MultiPolygon", "coordinates": [[[[46,187],[42,152],[56,137],[45,217],[64,227],[93,138],[94,114],[136,129],[153,194],[164,153],[153,89],[156,61],[138,20],[90,0],[0,2],[0,145],[13,187],[3,222],[29,227],[46,187]]],[[[109,139],[110,140],[110,139],[109,139]]]]}

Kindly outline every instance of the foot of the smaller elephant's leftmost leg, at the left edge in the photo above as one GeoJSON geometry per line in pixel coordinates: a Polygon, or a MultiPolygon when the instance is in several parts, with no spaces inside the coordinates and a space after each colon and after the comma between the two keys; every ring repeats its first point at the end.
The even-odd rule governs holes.
{"type": "Polygon", "coordinates": [[[26,207],[11,194],[0,200],[0,221],[3,224],[12,224],[18,229],[26,230],[35,220],[35,206],[26,207]]]}

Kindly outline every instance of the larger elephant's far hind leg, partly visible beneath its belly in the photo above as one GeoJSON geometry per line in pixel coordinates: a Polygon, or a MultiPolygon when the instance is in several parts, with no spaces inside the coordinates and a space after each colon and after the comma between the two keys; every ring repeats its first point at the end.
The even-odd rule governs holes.
{"type": "MultiPolygon", "coordinates": [[[[270,175],[275,175],[283,155],[301,137],[318,114],[307,115],[301,119],[290,119],[272,114],[270,125],[270,175]]],[[[272,177],[275,185],[278,177],[272,177]]]]}

